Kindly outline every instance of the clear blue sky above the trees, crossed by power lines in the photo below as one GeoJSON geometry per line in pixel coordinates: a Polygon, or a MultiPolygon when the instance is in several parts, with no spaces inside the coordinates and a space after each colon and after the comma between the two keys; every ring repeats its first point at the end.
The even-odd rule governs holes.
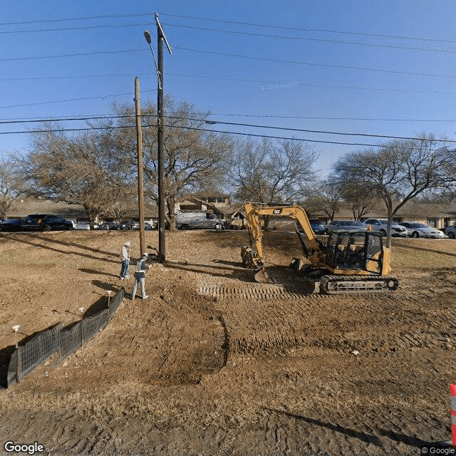
{"type": "MultiPolygon", "coordinates": [[[[24,120],[108,115],[113,102],[133,103],[135,76],[142,103],[155,103],[155,68],[143,36],[149,29],[156,48],[155,12],[173,48],[172,56],[165,53],[165,93],[210,110],[213,120],[455,139],[452,0],[5,0],[0,133],[35,125],[24,120]],[[11,120],[19,123],[4,123],[11,120]]],[[[313,140],[322,174],[337,157],[363,149],[328,142],[388,140],[214,128],[313,140]]],[[[28,134],[0,134],[0,155],[28,147],[28,134]]]]}

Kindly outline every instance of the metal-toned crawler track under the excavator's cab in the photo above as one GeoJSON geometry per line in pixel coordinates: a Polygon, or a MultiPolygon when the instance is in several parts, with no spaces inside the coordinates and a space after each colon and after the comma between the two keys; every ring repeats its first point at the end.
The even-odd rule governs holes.
{"type": "Polygon", "coordinates": [[[320,281],[320,293],[372,293],[394,291],[399,286],[395,277],[388,276],[339,276],[324,275],[320,281]]]}

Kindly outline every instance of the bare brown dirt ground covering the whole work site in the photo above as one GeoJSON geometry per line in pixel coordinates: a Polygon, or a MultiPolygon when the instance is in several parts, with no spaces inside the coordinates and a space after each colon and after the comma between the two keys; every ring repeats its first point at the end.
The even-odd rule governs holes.
{"type": "MultiPolygon", "coordinates": [[[[0,380],[14,324],[23,343],[130,291],[126,240],[137,257],[138,232],[0,234],[0,380]]],[[[417,455],[450,440],[455,241],[393,239],[398,291],[324,296],[254,283],[247,240],[167,233],[149,299],[124,299],[73,356],[0,390],[0,454],[11,440],[50,455],[417,455]]],[[[300,250],[266,234],[273,264],[300,250]]]]}

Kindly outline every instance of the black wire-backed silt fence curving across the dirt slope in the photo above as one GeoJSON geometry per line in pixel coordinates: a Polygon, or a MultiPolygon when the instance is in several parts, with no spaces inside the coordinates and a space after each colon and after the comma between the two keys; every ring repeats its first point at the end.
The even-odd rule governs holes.
{"type": "Polygon", "coordinates": [[[124,294],[125,289],[120,289],[113,299],[110,299],[107,309],[83,318],[70,328],[63,329],[61,324],[58,324],[46,331],[41,331],[24,346],[16,348],[9,362],[7,386],[22,380],[49,358],[55,357],[58,364],[81,348],[95,333],[108,324],[122,303],[124,294]]]}

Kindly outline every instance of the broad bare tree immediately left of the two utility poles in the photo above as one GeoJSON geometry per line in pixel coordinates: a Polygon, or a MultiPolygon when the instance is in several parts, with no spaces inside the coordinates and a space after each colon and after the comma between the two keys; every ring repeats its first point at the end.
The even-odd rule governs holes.
{"type": "Polygon", "coordinates": [[[90,227],[125,195],[128,182],[103,147],[103,133],[67,137],[48,125],[32,134],[32,149],[21,162],[28,194],[81,204],[90,227]]]}

